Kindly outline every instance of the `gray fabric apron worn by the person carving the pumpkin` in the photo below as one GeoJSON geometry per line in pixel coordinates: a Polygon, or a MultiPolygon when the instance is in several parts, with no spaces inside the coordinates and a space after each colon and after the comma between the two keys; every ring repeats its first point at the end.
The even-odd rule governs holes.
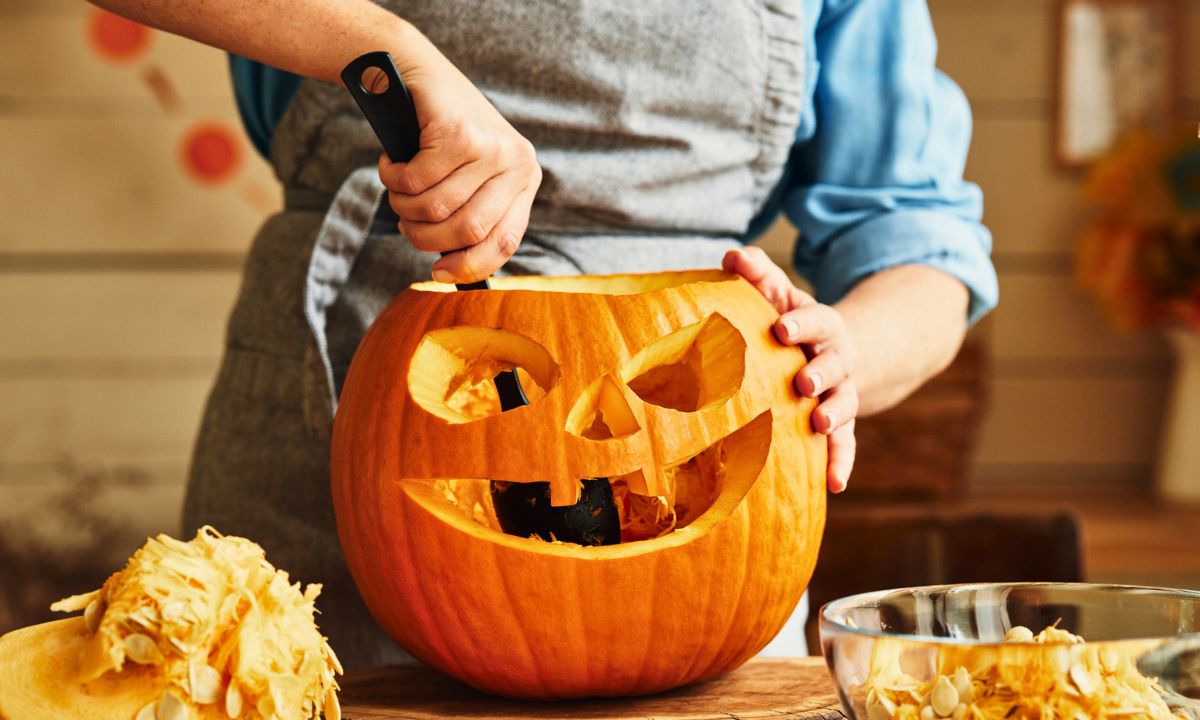
{"type": "MultiPolygon", "coordinates": [[[[503,272],[719,265],[779,182],[804,95],[802,0],[383,2],[420,28],[538,149],[544,181],[503,272]]],[[[407,658],[337,546],[329,437],[371,320],[436,256],[373,222],[378,142],[338,86],[307,80],[272,137],[284,210],[246,259],[197,439],[184,526],[260,542],[324,584],[348,667],[407,658]]],[[[803,608],[773,648],[803,654],[803,608]]]]}

